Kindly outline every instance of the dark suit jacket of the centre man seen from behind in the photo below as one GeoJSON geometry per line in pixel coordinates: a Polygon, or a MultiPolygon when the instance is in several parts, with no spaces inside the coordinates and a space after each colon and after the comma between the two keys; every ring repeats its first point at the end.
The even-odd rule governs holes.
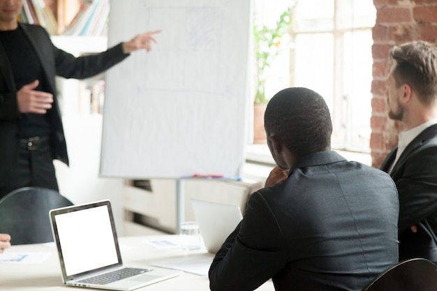
{"type": "Polygon", "coordinates": [[[253,193],[209,269],[210,288],[362,290],[398,260],[396,187],[335,151],[305,156],[288,179],[253,193]]]}

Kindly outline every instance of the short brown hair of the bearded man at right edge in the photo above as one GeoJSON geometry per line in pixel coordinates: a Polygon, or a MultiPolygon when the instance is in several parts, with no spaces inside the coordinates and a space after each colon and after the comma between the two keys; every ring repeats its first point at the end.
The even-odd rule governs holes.
{"type": "Polygon", "coordinates": [[[393,77],[396,87],[408,84],[429,105],[437,96],[437,49],[426,41],[413,41],[393,47],[390,57],[396,62],[393,77]]]}

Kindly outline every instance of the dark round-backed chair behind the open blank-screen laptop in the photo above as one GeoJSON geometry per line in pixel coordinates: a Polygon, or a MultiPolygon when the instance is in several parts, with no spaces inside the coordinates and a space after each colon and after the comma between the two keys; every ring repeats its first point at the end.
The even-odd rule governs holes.
{"type": "Polygon", "coordinates": [[[13,245],[53,241],[49,211],[70,205],[70,200],[52,189],[17,189],[0,199],[0,233],[10,234],[13,245]]]}

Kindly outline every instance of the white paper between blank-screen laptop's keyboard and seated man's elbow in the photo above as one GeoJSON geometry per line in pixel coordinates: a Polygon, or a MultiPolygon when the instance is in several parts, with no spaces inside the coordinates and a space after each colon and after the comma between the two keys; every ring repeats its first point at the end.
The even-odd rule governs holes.
{"type": "Polygon", "coordinates": [[[151,265],[166,269],[182,270],[200,276],[207,276],[212,259],[211,255],[190,255],[184,258],[154,262],[151,265]]]}

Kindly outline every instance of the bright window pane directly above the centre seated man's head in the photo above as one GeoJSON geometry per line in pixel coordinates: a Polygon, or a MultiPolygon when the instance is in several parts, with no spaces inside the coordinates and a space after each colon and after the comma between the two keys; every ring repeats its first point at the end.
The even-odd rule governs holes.
{"type": "Polygon", "coordinates": [[[332,33],[298,34],[295,38],[295,87],[306,87],[325,98],[333,107],[333,39],[332,33]]]}

